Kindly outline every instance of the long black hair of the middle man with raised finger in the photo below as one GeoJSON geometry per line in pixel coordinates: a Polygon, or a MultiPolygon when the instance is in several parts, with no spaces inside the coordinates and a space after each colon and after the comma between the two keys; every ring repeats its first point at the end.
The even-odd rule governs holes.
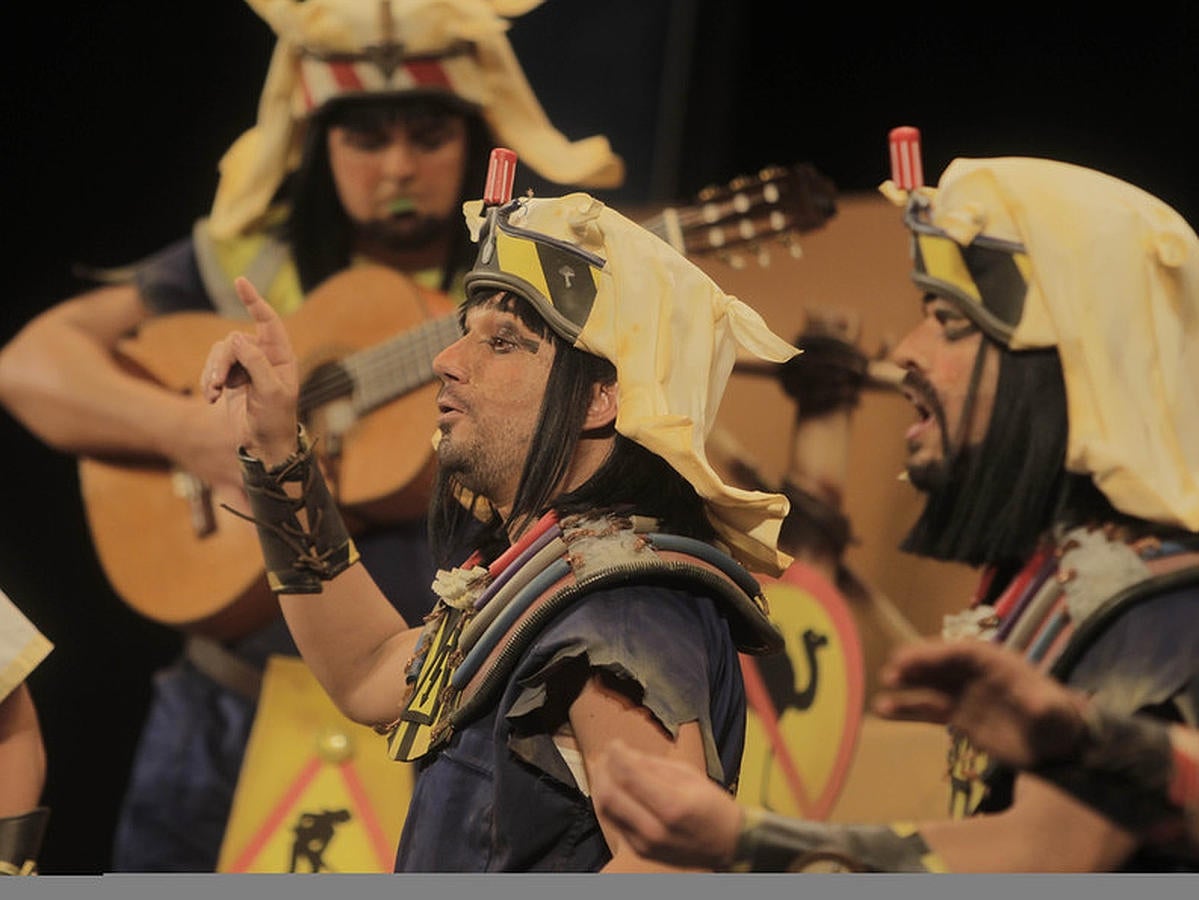
{"type": "MultiPolygon", "coordinates": [[[[462,314],[482,300],[468,301],[462,314]]],[[[653,517],[677,534],[703,540],[715,534],[704,501],[691,483],[670,465],[621,434],[611,452],[586,482],[558,494],[574,449],[583,437],[583,423],[596,385],[610,385],[616,369],[607,360],[571,346],[516,294],[498,301],[535,333],[553,342],[555,352],[537,425],[530,437],[520,484],[507,520],[501,520],[484,501],[463,502],[463,490],[452,475],[438,472],[429,508],[429,543],[440,564],[460,561],[469,543],[488,558],[507,546],[510,524],[528,525],[550,509],[559,517],[586,512],[620,511],[653,517]]]]}

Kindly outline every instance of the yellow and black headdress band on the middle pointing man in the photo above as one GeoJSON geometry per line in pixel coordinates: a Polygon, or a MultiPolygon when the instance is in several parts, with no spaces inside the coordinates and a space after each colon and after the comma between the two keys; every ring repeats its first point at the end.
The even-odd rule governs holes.
{"type": "Polygon", "coordinates": [[[511,224],[520,200],[492,207],[466,273],[466,296],[513,291],[531,302],[559,336],[573,344],[591,315],[604,260],[567,241],[511,224]]]}

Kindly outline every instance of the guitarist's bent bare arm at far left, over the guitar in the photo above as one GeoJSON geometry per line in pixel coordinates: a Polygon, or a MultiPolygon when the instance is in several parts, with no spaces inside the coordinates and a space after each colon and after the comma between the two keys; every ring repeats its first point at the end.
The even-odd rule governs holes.
{"type": "Polygon", "coordinates": [[[132,284],[49,308],[0,350],[0,403],[55,449],[169,459],[210,484],[237,485],[233,437],[206,404],[120,363],[118,343],[149,316],[132,284]]]}

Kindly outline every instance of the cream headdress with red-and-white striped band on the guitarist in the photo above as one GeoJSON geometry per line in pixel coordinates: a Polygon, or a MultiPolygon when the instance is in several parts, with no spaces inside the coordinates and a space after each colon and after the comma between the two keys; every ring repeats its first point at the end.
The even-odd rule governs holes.
{"type": "Polygon", "coordinates": [[[305,122],[345,96],[448,95],[477,107],[493,138],[560,185],[616,187],[623,163],[607,138],[571,141],[550,123],[506,35],[542,0],[247,0],[278,36],[258,122],[221,161],[210,217],[240,234],[300,164],[305,122]]]}

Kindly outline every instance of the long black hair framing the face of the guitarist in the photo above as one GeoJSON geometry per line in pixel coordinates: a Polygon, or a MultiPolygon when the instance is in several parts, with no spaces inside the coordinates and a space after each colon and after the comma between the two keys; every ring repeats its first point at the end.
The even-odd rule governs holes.
{"type": "MultiPolygon", "coordinates": [[[[466,161],[459,203],[482,197],[487,173],[490,135],[477,111],[435,96],[388,98],[382,96],[349,97],[325,104],[308,120],[299,168],[284,181],[279,199],[289,207],[283,237],[295,260],[300,288],[306,294],[326,278],[350,265],[354,249],[354,223],[342,207],[329,164],[327,135],[333,126],[369,127],[387,125],[399,116],[428,110],[430,114],[453,113],[466,123],[466,161]]],[[[453,229],[450,256],[442,270],[441,290],[448,290],[454,278],[474,262],[475,247],[465,225],[453,229]]]]}

